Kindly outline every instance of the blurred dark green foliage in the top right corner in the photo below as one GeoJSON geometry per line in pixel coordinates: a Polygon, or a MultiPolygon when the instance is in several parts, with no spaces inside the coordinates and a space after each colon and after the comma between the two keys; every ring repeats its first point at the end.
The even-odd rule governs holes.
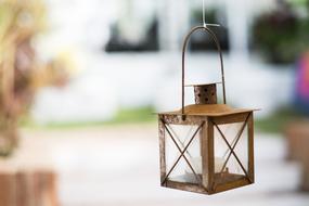
{"type": "Polygon", "coordinates": [[[256,18],[253,44],[268,62],[293,63],[308,50],[308,34],[309,17],[298,15],[291,4],[283,3],[275,11],[256,18]]]}

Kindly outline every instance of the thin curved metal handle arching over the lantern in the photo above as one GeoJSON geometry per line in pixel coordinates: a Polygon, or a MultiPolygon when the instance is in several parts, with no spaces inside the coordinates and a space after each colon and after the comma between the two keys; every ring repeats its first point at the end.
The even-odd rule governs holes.
{"type": "Polygon", "coordinates": [[[208,33],[211,36],[213,40],[215,41],[215,43],[217,46],[217,50],[218,50],[219,56],[220,56],[220,64],[221,64],[223,103],[227,104],[223,57],[222,57],[222,50],[221,50],[219,40],[218,40],[216,34],[213,30],[210,30],[209,28],[204,27],[204,26],[196,26],[196,27],[192,28],[191,31],[186,35],[186,37],[184,39],[184,42],[183,42],[183,48],[182,48],[182,96],[181,96],[182,107],[181,107],[181,114],[182,114],[183,119],[185,118],[185,114],[184,114],[184,66],[185,66],[184,63],[185,63],[185,50],[186,50],[186,46],[188,46],[188,42],[189,42],[189,39],[190,39],[191,35],[193,33],[195,33],[196,30],[199,30],[199,29],[208,33]]]}

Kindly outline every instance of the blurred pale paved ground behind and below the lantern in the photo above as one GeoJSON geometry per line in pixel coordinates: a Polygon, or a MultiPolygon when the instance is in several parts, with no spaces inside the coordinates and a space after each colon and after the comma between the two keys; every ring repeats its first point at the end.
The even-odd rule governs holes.
{"type": "Polygon", "coordinates": [[[155,125],[22,130],[16,159],[59,172],[62,206],[308,206],[280,137],[256,137],[256,184],[206,196],[159,186],[155,125]],[[18,157],[20,156],[20,157],[18,157]],[[40,159],[40,160],[37,160],[40,159]]]}

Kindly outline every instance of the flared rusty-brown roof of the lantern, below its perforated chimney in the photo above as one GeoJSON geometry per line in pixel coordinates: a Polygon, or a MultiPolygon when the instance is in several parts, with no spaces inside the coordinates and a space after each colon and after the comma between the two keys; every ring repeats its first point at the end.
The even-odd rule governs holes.
{"type": "MultiPolygon", "coordinates": [[[[184,107],[185,115],[194,116],[226,116],[232,114],[254,112],[258,110],[233,108],[227,104],[192,104],[184,107]]],[[[181,110],[173,112],[159,113],[160,115],[181,115],[181,110]]]]}

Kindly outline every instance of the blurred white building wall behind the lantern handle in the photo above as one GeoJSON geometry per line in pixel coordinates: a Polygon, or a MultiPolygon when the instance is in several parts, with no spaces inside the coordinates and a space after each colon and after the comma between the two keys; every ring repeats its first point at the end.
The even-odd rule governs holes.
{"type": "MultiPolygon", "coordinates": [[[[155,104],[158,111],[179,108],[180,48],[189,29],[189,0],[157,1],[163,50],[159,53],[138,54],[102,52],[101,46],[110,36],[108,26],[119,13],[124,14],[120,0],[47,1],[51,33],[38,40],[40,54],[48,59],[69,50],[76,56],[78,68],[66,89],[47,88],[39,92],[33,108],[37,121],[104,120],[113,117],[119,107],[149,104],[155,104]]],[[[207,2],[227,7],[232,41],[232,52],[224,54],[229,103],[262,108],[261,116],[288,104],[293,90],[292,72],[276,69],[248,56],[250,20],[260,9],[270,8],[272,1],[207,2]],[[273,94],[276,96],[273,98],[273,94]]],[[[141,16],[142,13],[144,16],[152,15],[142,7],[138,10],[141,16]]],[[[140,18],[139,15],[137,18],[140,18]]],[[[190,82],[219,77],[218,56],[215,54],[189,56],[188,64],[190,82]],[[205,72],[204,68],[211,69],[205,72]]],[[[190,94],[188,99],[193,100],[190,94]]]]}

